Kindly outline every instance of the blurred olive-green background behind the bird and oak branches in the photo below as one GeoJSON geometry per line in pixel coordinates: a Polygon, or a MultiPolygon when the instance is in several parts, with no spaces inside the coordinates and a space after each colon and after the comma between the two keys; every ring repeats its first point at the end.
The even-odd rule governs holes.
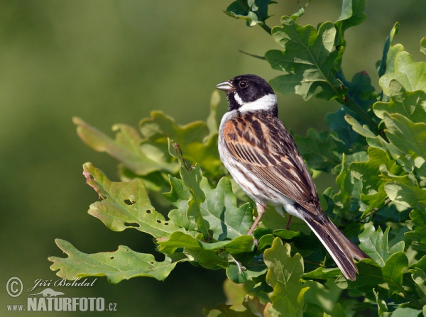
{"type": "MultiPolygon", "coordinates": [[[[215,84],[237,74],[268,80],[277,76],[267,62],[239,52],[263,55],[280,47],[261,28],[226,16],[222,11],[230,3],[0,1],[1,316],[35,314],[7,313],[6,304],[25,304],[26,289],[35,279],[58,279],[47,260],[63,256],[55,238],[88,253],[114,251],[119,245],[155,252],[148,235],[114,233],[87,214],[97,194],[85,184],[82,164],[92,162],[118,180],[116,161],[87,148],[71,118],[80,116],[109,135],[114,135],[114,123],[137,126],[154,109],[181,124],[204,120],[215,84]],[[24,283],[17,299],[5,291],[14,276],[24,283]]],[[[297,0],[278,0],[269,26],[278,25],[280,16],[294,13],[298,5],[297,0]]],[[[341,6],[337,0],[313,0],[299,23],[336,21],[341,6]]],[[[346,33],[346,77],[366,70],[378,87],[374,64],[396,21],[400,33],[395,41],[415,60],[425,60],[419,52],[420,38],[426,35],[425,11],[424,0],[370,1],[366,22],[346,33]]],[[[223,99],[219,116],[226,111],[223,99]]],[[[310,127],[327,128],[324,114],[339,108],[335,102],[305,102],[300,96],[279,95],[278,100],[280,118],[301,135],[310,127]]],[[[322,177],[317,186],[322,191],[331,181],[322,177]]],[[[224,279],[222,271],[183,263],[165,282],[135,278],[109,284],[100,277],[94,287],[56,289],[117,303],[116,312],[102,316],[202,316],[202,307],[225,300],[224,279]]]]}

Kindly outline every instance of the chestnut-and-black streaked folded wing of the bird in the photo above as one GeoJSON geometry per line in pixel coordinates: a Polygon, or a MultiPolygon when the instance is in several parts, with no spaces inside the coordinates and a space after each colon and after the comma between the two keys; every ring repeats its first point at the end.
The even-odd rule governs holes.
{"type": "Polygon", "coordinates": [[[241,114],[224,125],[230,154],[268,187],[311,213],[321,211],[309,170],[280,119],[268,114],[241,114]]]}

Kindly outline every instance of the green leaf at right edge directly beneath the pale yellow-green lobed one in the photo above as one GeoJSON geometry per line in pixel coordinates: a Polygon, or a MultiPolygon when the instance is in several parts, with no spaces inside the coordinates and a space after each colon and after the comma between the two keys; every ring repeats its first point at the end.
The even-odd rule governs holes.
{"type": "Polygon", "coordinates": [[[426,121],[426,93],[422,90],[407,91],[396,80],[389,83],[389,102],[376,102],[373,105],[374,113],[383,119],[385,113],[400,113],[415,123],[426,121]]]}

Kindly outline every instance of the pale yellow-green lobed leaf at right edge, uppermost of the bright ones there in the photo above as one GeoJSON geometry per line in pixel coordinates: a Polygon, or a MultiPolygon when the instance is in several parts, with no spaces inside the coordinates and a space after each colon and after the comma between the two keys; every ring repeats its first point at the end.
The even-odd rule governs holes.
{"type": "Polygon", "coordinates": [[[379,79],[380,87],[388,95],[391,80],[396,79],[405,90],[425,90],[426,87],[426,63],[414,62],[408,52],[399,52],[395,57],[395,72],[384,74],[379,79]]]}

